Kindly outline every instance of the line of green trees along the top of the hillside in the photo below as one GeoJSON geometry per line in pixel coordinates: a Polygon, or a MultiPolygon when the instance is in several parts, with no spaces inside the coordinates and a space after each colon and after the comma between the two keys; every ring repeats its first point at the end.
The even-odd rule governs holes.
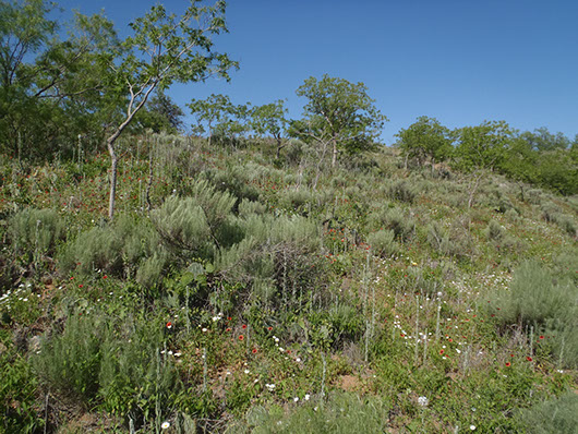
{"type": "MultiPolygon", "coordinates": [[[[22,160],[70,158],[79,142],[84,149],[106,148],[112,217],[117,138],[146,130],[184,132],[184,112],[165,91],[212,76],[230,80],[239,67],[214,51],[214,37],[228,32],[226,3],[189,3],[180,15],[153,7],[130,23],[132,34],[122,39],[103,14],[76,12],[64,26],[52,19],[53,3],[0,1],[0,152],[22,160]]],[[[193,99],[186,105],[195,118],[192,132],[209,144],[273,137],[277,158],[289,138],[299,138],[332,167],[341,155],[378,146],[387,118],[363,83],[309,77],[296,93],[306,100],[301,119],[288,118],[284,100],[253,107],[234,105],[226,95],[193,99]]],[[[505,121],[484,121],[449,130],[421,117],[396,137],[406,166],[434,170],[449,164],[471,173],[474,184],[484,171],[499,171],[520,182],[522,195],[527,183],[578,192],[578,138],[545,128],[519,132],[505,121]]]]}

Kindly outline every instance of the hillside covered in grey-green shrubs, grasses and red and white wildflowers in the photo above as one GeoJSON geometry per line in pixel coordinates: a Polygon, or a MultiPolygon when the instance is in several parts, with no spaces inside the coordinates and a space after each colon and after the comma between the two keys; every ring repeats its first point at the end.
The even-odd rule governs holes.
{"type": "Polygon", "coordinates": [[[575,432],[576,197],[487,172],[469,207],[392,149],[121,147],[115,221],[106,155],[0,157],[0,431],[575,432]]]}

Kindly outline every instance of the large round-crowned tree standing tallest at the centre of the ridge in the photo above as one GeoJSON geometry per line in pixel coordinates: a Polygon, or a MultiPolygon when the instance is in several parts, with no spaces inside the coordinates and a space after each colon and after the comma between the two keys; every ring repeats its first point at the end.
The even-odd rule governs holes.
{"type": "Polygon", "coordinates": [[[339,152],[354,154],[370,148],[387,121],[363,83],[352,84],[327,74],[320,81],[312,76],[297,89],[297,95],[308,98],[308,103],[304,119],[292,123],[293,134],[313,138],[324,147],[330,145],[333,167],[339,152]]]}

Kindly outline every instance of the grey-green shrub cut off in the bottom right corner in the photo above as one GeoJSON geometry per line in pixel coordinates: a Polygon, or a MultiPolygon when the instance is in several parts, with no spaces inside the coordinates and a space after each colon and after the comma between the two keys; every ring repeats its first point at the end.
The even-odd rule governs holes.
{"type": "Polygon", "coordinates": [[[578,395],[568,391],[519,412],[520,424],[528,434],[576,434],[578,395]]]}

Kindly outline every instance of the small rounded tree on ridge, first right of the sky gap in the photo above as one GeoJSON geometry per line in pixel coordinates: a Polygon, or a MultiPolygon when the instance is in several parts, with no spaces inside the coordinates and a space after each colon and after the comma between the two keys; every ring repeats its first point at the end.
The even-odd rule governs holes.
{"type": "Polygon", "coordinates": [[[430,158],[433,171],[434,164],[445,160],[453,150],[449,129],[435,118],[422,116],[407,129],[401,129],[396,136],[397,145],[406,155],[406,167],[408,158],[416,158],[418,165],[430,158]]]}

